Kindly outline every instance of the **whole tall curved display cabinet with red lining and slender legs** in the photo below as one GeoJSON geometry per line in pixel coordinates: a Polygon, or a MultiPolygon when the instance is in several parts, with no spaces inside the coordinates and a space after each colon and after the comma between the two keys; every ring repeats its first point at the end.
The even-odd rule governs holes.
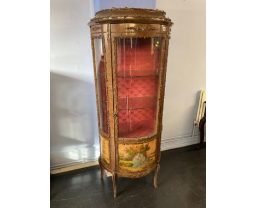
{"type": "Polygon", "coordinates": [[[118,177],[159,172],[162,111],[172,22],[165,12],[113,8],[98,11],[91,30],[98,131],[98,162],[118,177]]]}

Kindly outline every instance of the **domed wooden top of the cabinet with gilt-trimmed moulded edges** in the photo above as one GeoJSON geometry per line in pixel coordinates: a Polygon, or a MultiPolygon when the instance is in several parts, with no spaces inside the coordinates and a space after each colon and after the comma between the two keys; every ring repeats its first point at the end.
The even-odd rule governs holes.
{"type": "Polygon", "coordinates": [[[165,17],[165,11],[158,9],[112,8],[95,13],[89,26],[104,23],[152,23],[172,26],[171,19],[165,17]]]}

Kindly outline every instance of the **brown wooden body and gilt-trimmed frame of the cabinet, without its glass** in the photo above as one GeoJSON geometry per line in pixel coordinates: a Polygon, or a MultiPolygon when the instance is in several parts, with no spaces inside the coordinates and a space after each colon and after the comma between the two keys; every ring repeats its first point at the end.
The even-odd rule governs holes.
{"type": "Polygon", "coordinates": [[[141,178],[155,171],[154,186],[160,169],[160,144],[162,132],[162,112],[164,106],[166,65],[171,26],[165,12],[152,9],[113,8],[98,11],[88,23],[91,29],[92,57],[94,60],[95,89],[97,100],[98,126],[100,126],[99,95],[95,63],[94,39],[103,40],[104,66],[107,88],[108,133],[98,128],[101,156],[98,162],[103,169],[112,173],[114,197],[117,196],[117,178],[141,178]],[[119,137],[118,123],[118,77],[117,39],[118,38],[161,38],[161,58],[159,60],[158,99],[156,106],[155,132],[138,138],[119,137]],[[129,153],[133,152],[133,157],[129,153]],[[136,153],[137,152],[137,153],[136,153]],[[143,154],[142,154],[142,153],[143,154]],[[136,158],[140,159],[136,166],[136,158]]]}

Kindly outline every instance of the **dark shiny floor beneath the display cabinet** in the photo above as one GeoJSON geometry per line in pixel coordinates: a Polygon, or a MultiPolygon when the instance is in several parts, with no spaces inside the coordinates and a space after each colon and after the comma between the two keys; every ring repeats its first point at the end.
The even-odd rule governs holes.
{"type": "Polygon", "coordinates": [[[206,207],[206,144],[163,151],[158,189],[153,173],[117,184],[114,199],[112,178],[101,181],[98,166],[51,176],[50,207],[206,207]]]}

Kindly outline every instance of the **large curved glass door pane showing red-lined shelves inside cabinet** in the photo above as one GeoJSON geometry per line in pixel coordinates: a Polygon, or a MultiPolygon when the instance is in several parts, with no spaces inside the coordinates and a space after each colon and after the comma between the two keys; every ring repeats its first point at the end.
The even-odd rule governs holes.
{"type": "Polygon", "coordinates": [[[156,130],[161,38],[117,38],[119,137],[156,130]]]}

